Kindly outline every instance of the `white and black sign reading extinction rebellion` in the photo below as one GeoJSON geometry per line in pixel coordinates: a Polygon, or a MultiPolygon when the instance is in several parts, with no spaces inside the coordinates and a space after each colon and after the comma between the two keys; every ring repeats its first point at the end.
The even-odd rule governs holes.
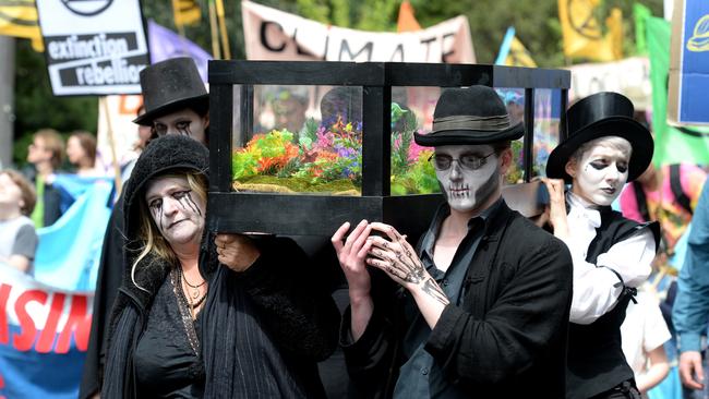
{"type": "Polygon", "coordinates": [[[149,64],[139,0],[37,0],[56,96],[141,93],[149,64]]]}

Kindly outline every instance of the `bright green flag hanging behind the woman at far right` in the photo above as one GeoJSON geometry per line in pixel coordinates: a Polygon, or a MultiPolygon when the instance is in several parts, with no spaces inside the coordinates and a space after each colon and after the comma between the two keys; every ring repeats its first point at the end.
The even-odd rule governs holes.
{"type": "Polygon", "coordinates": [[[672,27],[663,19],[645,21],[650,82],[652,83],[652,131],[656,165],[709,164],[709,128],[673,128],[668,124],[668,75],[672,27]]]}

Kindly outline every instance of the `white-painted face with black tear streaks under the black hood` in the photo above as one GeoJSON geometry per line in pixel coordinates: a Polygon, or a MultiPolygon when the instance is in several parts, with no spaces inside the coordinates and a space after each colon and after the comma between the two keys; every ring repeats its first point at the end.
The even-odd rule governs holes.
{"type": "Polygon", "coordinates": [[[190,189],[187,178],[152,180],[145,191],[145,202],[155,225],[170,246],[200,245],[206,204],[190,189]]]}

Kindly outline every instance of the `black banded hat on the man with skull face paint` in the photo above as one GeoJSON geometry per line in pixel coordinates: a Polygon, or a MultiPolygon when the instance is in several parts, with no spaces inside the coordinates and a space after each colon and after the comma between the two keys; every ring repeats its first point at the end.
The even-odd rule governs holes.
{"type": "Polygon", "coordinates": [[[507,108],[493,88],[470,86],[443,92],[433,111],[431,133],[413,135],[417,144],[435,147],[491,144],[524,134],[521,123],[512,125],[507,108]]]}

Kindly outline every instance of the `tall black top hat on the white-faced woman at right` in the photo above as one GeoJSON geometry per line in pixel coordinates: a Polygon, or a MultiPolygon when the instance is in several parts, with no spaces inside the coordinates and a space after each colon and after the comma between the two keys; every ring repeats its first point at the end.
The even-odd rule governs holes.
{"type": "Polygon", "coordinates": [[[652,135],[633,119],[633,102],[617,93],[598,93],[574,104],[566,111],[568,138],[549,155],[546,176],[553,179],[573,179],[566,173],[566,162],[584,143],[605,136],[623,137],[630,142],[633,153],[628,165],[628,181],[642,174],[652,160],[652,135]]]}

